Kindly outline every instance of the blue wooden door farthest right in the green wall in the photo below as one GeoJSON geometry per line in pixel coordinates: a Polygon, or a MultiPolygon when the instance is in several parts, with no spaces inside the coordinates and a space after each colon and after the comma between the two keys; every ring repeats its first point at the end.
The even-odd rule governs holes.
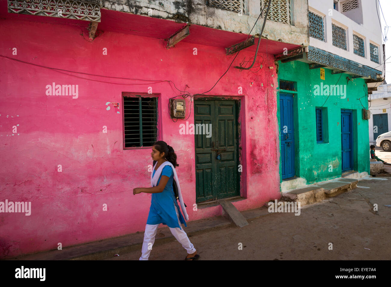
{"type": "Polygon", "coordinates": [[[341,110],[342,172],[353,169],[352,112],[341,110]]]}

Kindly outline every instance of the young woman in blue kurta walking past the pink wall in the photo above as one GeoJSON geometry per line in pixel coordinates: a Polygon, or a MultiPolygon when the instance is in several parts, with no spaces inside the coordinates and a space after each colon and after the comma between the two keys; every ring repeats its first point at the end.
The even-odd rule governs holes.
{"type": "Polygon", "coordinates": [[[172,182],[175,180],[178,187],[182,212],[186,220],[188,220],[181,188],[179,187],[178,176],[175,171],[175,167],[179,165],[176,163],[174,149],[167,145],[166,142],[160,140],[153,144],[151,157],[156,161],[151,174],[152,187],[135,188],[133,190],[133,195],[142,192],[152,193],[151,208],[149,209],[147,224],[145,225],[140,260],[148,260],[160,223],[168,225],[172,235],[186,249],[188,254],[185,260],[197,260],[199,255],[188,239],[186,232],[181,228],[181,223],[184,223],[185,226],[187,225],[185,218],[183,218],[182,213],[179,211],[178,202],[176,201],[172,188],[172,182]]]}

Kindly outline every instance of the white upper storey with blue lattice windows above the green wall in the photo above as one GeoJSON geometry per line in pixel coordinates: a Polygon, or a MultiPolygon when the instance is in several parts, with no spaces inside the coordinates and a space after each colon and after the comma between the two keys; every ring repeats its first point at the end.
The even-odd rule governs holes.
{"type": "MultiPolygon", "coordinates": [[[[375,86],[382,74],[384,53],[376,0],[308,0],[311,52],[332,53],[336,62],[324,64],[335,73],[368,79],[375,86]],[[316,48],[316,49],[314,49],[316,48]],[[380,71],[380,72],[379,72],[380,71]],[[369,80],[369,79],[372,80],[369,80]]],[[[377,84],[378,85],[378,84],[377,84]]]]}

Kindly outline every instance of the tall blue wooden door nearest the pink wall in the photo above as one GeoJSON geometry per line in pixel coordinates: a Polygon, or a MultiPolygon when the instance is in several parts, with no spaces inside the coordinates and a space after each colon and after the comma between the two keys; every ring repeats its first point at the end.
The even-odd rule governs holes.
{"type": "Polygon", "coordinates": [[[295,175],[293,95],[280,93],[280,151],[282,179],[295,175]]]}

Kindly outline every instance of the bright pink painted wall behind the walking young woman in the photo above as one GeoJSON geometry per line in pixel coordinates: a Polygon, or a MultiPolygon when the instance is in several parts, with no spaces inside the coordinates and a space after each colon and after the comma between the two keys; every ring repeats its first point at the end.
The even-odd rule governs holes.
{"type": "MultiPolygon", "coordinates": [[[[0,19],[0,55],[83,73],[171,80],[181,90],[188,85],[191,94],[209,90],[234,57],[226,56],[222,47],[178,43],[166,50],[159,39],[116,32],[103,32],[90,43],[85,28],[62,25],[61,20],[48,25],[38,20],[0,19]],[[108,55],[102,55],[103,48],[108,55]]],[[[209,93],[243,99],[241,193],[247,199],[234,203],[240,211],[280,198],[276,67],[273,55],[260,55],[264,58],[260,71],[240,72],[233,66],[253,56],[253,52],[241,51],[209,93]],[[252,87],[250,82],[254,82],[252,87]]],[[[123,149],[122,106],[118,110],[109,104],[111,109],[106,110],[105,105],[122,105],[122,92],[146,93],[152,87],[159,95],[159,132],[178,155],[177,172],[190,221],[221,214],[219,206],[192,209],[194,135],[179,135],[183,121],[174,123],[169,118],[168,101],[177,91],[167,82],[130,83],[140,81],[59,73],[0,57],[0,201],[30,201],[32,208],[30,216],[0,213],[0,257],[56,249],[60,242],[65,248],[144,230],[151,195],[133,195],[132,191],[150,186],[151,149],[123,149]],[[47,96],[46,85],[53,82],[78,85],[78,98],[47,96]],[[17,133],[12,132],[14,125],[18,125],[17,133]],[[108,133],[102,133],[103,126],[108,133]],[[57,171],[58,165],[62,172],[57,171]],[[103,204],[108,211],[102,211],[103,204]]],[[[194,110],[189,123],[194,123],[193,115],[194,110]]]]}

